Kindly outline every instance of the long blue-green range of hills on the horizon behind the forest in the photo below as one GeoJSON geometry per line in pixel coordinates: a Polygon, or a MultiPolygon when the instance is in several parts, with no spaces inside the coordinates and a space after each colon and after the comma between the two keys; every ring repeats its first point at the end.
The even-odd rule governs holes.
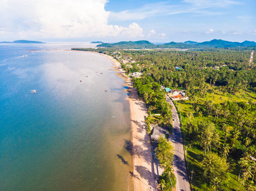
{"type": "Polygon", "coordinates": [[[97,45],[99,47],[107,48],[234,48],[234,47],[248,47],[256,46],[254,41],[243,41],[243,43],[224,41],[222,39],[213,39],[211,41],[204,41],[197,43],[195,41],[185,41],[184,43],[176,43],[174,41],[165,43],[163,45],[154,45],[149,41],[121,41],[119,43],[102,43],[97,45]]]}

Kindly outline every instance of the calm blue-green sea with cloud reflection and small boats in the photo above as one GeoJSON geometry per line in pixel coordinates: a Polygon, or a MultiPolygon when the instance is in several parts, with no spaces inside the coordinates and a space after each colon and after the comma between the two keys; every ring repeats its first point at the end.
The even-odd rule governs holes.
{"type": "Polygon", "coordinates": [[[0,190],[133,190],[124,81],[66,51],[93,46],[0,44],[0,190]]]}

